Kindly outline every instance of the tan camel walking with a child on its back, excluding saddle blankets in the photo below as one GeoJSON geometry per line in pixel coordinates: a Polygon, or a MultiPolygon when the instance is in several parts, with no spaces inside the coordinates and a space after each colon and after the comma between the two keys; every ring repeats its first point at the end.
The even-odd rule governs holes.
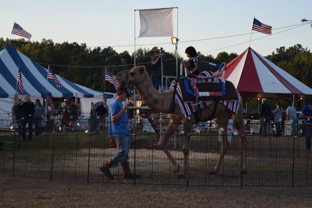
{"type": "MultiPolygon", "coordinates": [[[[139,94],[140,98],[145,102],[145,104],[159,113],[168,113],[170,109],[170,103],[173,100],[173,89],[170,89],[165,92],[158,92],[154,89],[152,80],[150,79],[148,73],[145,70],[145,66],[134,66],[129,71],[121,71],[119,72],[115,80],[117,82],[127,82],[131,85],[136,87],[137,93],[139,94]]],[[[208,117],[212,115],[214,102],[203,108],[201,111],[200,121],[205,122],[207,121],[208,117]]],[[[215,112],[215,122],[217,127],[219,128],[220,135],[221,135],[221,154],[219,160],[212,171],[209,174],[217,174],[222,160],[224,158],[227,149],[229,148],[229,143],[227,140],[227,122],[230,119],[230,116],[233,116],[233,128],[236,128],[238,135],[241,139],[241,148],[243,150],[243,168],[242,174],[247,173],[247,162],[246,162],[246,150],[248,146],[247,139],[244,136],[243,127],[244,127],[244,119],[242,113],[242,100],[240,102],[239,110],[237,114],[229,110],[223,104],[218,104],[217,109],[215,112]],[[220,129],[223,129],[221,131],[220,129]]],[[[163,152],[168,156],[170,162],[173,165],[174,173],[179,171],[180,165],[178,162],[173,158],[167,148],[167,143],[170,136],[175,132],[176,127],[182,123],[183,128],[183,166],[181,172],[177,175],[179,178],[186,178],[187,176],[187,160],[188,160],[188,144],[189,144],[189,133],[191,133],[192,124],[196,123],[194,114],[190,115],[190,119],[185,118],[185,116],[181,113],[180,107],[178,104],[175,107],[173,113],[168,114],[170,118],[170,123],[168,124],[168,128],[166,129],[162,138],[158,141],[158,147],[163,150],[163,152]]]]}

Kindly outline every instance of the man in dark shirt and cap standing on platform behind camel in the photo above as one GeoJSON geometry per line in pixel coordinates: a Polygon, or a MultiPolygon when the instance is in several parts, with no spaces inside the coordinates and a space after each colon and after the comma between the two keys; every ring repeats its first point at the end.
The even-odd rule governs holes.
{"type": "Polygon", "coordinates": [[[152,62],[151,80],[153,82],[154,88],[158,91],[162,75],[161,68],[165,63],[165,54],[160,53],[160,50],[157,48],[152,52],[154,52],[154,57],[152,62]]]}

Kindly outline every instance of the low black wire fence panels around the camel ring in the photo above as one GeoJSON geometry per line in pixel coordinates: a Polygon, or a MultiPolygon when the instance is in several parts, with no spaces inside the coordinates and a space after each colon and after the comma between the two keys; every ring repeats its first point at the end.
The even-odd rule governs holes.
{"type": "MultiPolygon", "coordinates": [[[[153,116],[152,116],[153,117],[153,116]]],[[[154,117],[155,118],[155,117],[154,117]]],[[[249,142],[248,173],[241,174],[241,142],[232,124],[228,123],[230,148],[219,172],[209,174],[220,155],[220,135],[215,123],[193,125],[190,133],[187,178],[178,178],[168,157],[156,145],[168,125],[167,118],[129,120],[131,127],[130,167],[141,175],[139,179],[123,179],[121,167],[111,168],[115,179],[110,180],[99,167],[116,153],[110,147],[108,130],[100,129],[95,120],[75,122],[76,131],[70,132],[59,122],[51,131],[32,141],[21,140],[18,129],[7,125],[0,131],[0,173],[13,176],[40,177],[86,182],[170,184],[195,186],[311,186],[312,152],[305,148],[304,127],[296,126],[295,136],[288,124],[281,127],[282,136],[276,137],[274,124],[268,124],[268,136],[257,132],[259,123],[245,121],[249,142]],[[285,130],[287,129],[287,130],[285,130]],[[286,134],[287,133],[287,134],[286,134]]],[[[2,123],[7,120],[2,120],[2,123]]],[[[105,125],[108,125],[105,122],[105,125]]],[[[16,126],[15,124],[12,126],[16,126]]],[[[27,132],[28,134],[28,132],[27,132]]],[[[171,155],[183,162],[183,132],[177,128],[168,142],[171,155]]],[[[181,168],[180,168],[181,169],[181,168]]]]}

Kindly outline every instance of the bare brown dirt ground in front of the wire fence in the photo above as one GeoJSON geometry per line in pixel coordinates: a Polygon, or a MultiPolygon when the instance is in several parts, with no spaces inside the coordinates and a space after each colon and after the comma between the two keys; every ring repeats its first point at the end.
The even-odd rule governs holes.
{"type": "Polygon", "coordinates": [[[2,207],[311,207],[312,187],[89,183],[0,174],[2,207]]]}

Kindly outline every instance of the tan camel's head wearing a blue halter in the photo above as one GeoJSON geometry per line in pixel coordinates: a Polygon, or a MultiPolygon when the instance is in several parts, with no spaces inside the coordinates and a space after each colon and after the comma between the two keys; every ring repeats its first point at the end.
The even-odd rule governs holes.
{"type": "MultiPolygon", "coordinates": [[[[128,71],[128,80],[129,84],[135,85],[135,83],[139,83],[144,78],[148,76],[145,66],[134,66],[131,70],[128,71]]],[[[127,81],[127,75],[126,71],[121,71],[116,75],[115,80],[117,82],[126,82],[127,81]]]]}

